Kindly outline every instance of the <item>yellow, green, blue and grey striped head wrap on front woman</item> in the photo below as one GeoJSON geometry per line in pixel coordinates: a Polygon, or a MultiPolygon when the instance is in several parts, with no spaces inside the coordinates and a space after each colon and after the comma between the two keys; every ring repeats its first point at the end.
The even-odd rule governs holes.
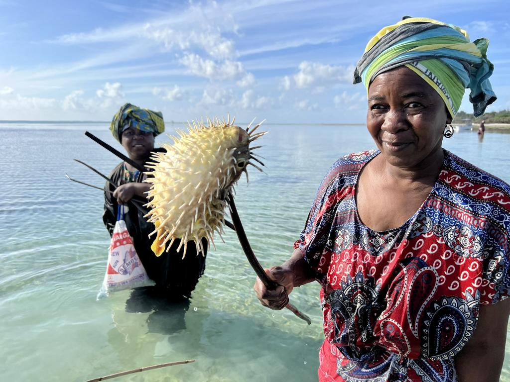
{"type": "Polygon", "coordinates": [[[455,25],[423,17],[407,17],[381,29],[367,44],[356,65],[354,84],[367,87],[380,73],[406,66],[438,92],[455,116],[466,88],[475,117],[496,100],[489,77],[494,65],[487,59],[489,40],[469,42],[455,25]]]}

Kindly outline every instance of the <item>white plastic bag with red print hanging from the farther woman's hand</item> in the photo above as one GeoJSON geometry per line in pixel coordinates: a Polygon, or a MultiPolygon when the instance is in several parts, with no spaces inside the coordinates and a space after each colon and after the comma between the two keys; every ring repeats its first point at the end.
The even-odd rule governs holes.
{"type": "Polygon", "coordinates": [[[125,208],[119,205],[117,211],[117,222],[108,249],[105,279],[97,298],[108,296],[112,291],[154,284],[147,276],[133,245],[133,238],[127,231],[124,222],[125,208]]]}

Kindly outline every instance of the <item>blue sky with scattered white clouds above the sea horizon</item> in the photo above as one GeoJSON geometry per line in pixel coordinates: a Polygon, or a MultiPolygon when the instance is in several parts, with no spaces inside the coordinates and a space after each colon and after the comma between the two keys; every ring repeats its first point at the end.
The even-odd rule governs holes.
{"type": "MultiPolygon", "coordinates": [[[[167,121],[235,115],[363,123],[352,72],[367,41],[404,15],[490,40],[510,108],[507,2],[0,0],[0,120],[109,121],[131,102],[167,121]]],[[[470,111],[465,97],[461,110],[470,111]]]]}

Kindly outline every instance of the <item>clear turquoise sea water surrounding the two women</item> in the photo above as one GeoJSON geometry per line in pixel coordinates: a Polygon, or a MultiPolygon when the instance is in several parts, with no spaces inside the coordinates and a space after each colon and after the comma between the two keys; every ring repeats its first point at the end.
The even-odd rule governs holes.
{"type": "MultiPolygon", "coordinates": [[[[181,126],[177,126],[181,127],[181,126]]],[[[171,132],[172,126],[169,130],[171,132]]],[[[363,126],[278,126],[260,143],[266,174],[242,178],[237,207],[264,266],[292,252],[319,182],[339,156],[373,148],[363,126]]],[[[106,124],[0,123],[0,359],[5,381],[84,381],[138,367],[195,359],[118,381],[311,381],[321,344],[319,286],[297,288],[291,302],[312,318],[263,308],[253,271],[232,231],[207,258],[189,306],[126,312],[130,291],[96,301],[109,235],[103,195],[71,177],[103,185],[74,162],[109,171],[119,160],[83,132],[120,149],[106,124]]],[[[168,141],[158,137],[157,142],[168,141]]],[[[510,134],[458,132],[444,147],[510,181],[510,134]]],[[[130,311],[130,309],[127,309],[130,311]]],[[[510,380],[510,344],[502,380],[510,380]]]]}

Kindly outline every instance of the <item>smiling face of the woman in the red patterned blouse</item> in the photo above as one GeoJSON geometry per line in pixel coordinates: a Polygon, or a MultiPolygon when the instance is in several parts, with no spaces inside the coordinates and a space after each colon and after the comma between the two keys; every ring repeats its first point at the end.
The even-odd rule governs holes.
{"type": "Polygon", "coordinates": [[[413,169],[442,155],[443,99],[404,66],[375,77],[368,89],[367,128],[390,165],[413,169]]]}

